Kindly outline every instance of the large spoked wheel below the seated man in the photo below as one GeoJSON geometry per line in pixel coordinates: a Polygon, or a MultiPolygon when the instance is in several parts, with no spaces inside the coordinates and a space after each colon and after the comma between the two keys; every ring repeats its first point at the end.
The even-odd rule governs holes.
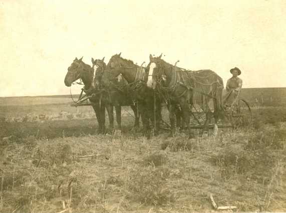
{"type": "Polygon", "coordinates": [[[242,98],[238,99],[227,113],[234,128],[248,126],[251,123],[251,109],[247,101],[242,98]]]}

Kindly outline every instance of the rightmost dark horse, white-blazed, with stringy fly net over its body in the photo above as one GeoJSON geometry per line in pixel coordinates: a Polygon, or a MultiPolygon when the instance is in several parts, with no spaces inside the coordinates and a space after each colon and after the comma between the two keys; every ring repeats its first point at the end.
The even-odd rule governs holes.
{"type": "Polygon", "coordinates": [[[157,90],[170,102],[171,134],[175,133],[175,106],[178,104],[183,113],[183,124],[187,124],[188,136],[193,137],[190,128],[190,112],[192,107],[199,105],[206,114],[204,131],[208,131],[211,116],[217,127],[218,117],[223,117],[222,91],[223,80],[212,70],[188,71],[165,62],[159,57],[152,57],[146,69],[149,70],[147,86],[157,90]],[[162,85],[161,82],[164,79],[162,85]],[[213,102],[213,112],[209,104],[213,102]]]}

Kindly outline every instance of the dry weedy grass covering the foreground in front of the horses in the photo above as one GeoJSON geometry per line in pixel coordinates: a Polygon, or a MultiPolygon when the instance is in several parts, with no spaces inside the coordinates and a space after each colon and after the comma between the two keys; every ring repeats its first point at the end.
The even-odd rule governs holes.
{"type": "MultiPolygon", "coordinates": [[[[284,147],[273,144],[284,143],[284,127],[279,137],[275,127],[265,128],[258,144],[260,133],[240,129],[164,151],[167,133],[150,141],[132,135],[12,138],[1,149],[1,211],[58,212],[63,202],[73,212],[204,211],[211,209],[209,193],[240,211],[283,210],[284,147]]],[[[168,141],[177,139],[183,136],[168,141]]]]}

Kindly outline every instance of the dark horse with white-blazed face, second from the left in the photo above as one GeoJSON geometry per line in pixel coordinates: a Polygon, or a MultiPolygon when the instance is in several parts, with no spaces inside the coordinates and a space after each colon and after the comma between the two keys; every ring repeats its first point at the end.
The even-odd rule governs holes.
{"type": "Polygon", "coordinates": [[[134,104],[131,97],[126,93],[124,87],[127,85],[125,79],[121,78],[119,75],[114,79],[104,79],[102,80],[102,76],[104,71],[106,70],[106,64],[104,62],[104,58],[102,60],[92,58],[92,64],[95,69],[94,75],[94,87],[100,91],[101,93],[101,101],[104,102],[105,107],[109,116],[109,124],[113,129],[114,116],[113,116],[113,106],[116,111],[116,121],[118,128],[121,130],[121,106],[130,106],[134,112],[135,123],[133,130],[139,129],[139,113],[137,112],[136,104],[134,104]]]}

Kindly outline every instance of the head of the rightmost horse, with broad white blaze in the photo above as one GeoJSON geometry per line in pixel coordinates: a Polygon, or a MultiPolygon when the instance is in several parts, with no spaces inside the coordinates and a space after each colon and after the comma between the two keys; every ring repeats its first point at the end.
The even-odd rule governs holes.
{"type": "Polygon", "coordinates": [[[146,67],[146,71],[148,72],[147,86],[149,88],[155,89],[157,83],[162,80],[164,68],[161,57],[162,54],[158,57],[153,57],[151,54],[149,56],[150,62],[146,67]]]}

